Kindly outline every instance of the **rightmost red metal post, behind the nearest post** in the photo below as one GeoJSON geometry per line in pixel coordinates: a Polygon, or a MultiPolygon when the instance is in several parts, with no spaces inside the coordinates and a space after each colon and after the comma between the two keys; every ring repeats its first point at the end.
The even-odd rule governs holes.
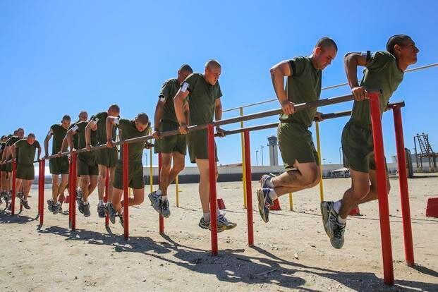
{"type": "Polygon", "coordinates": [[[403,236],[405,243],[405,260],[409,267],[414,265],[412,228],[410,226],[410,206],[408,192],[408,177],[406,174],[406,152],[403,141],[403,124],[401,122],[401,107],[393,107],[394,128],[396,130],[397,162],[399,164],[399,185],[401,200],[401,217],[403,221],[403,236]]]}

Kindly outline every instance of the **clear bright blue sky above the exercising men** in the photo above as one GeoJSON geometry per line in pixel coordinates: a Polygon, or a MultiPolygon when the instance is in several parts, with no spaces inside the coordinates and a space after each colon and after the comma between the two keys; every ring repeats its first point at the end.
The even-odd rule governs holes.
{"type": "MultiPolygon", "coordinates": [[[[269,68],[310,54],[323,36],[335,39],[339,47],[324,71],[323,87],[346,81],[346,52],[382,50],[398,33],[418,44],[415,66],[437,63],[436,11],[437,1],[1,1],[0,133],[21,126],[42,141],[63,114],[75,119],[81,109],[94,114],[114,102],[121,106],[121,116],[133,118],[145,111],[152,118],[162,82],[176,76],[181,63],[202,71],[212,58],[222,64],[224,109],[271,99],[269,68]]],[[[406,101],[403,126],[410,149],[413,135],[421,132],[429,133],[432,146],[438,147],[438,131],[431,122],[437,77],[438,68],[406,73],[391,98],[406,101]]],[[[348,87],[326,90],[322,98],[348,93],[348,87]]],[[[277,107],[264,104],[245,113],[277,107]]],[[[320,111],[346,109],[351,103],[320,111]]],[[[237,114],[226,113],[224,118],[237,114]]],[[[245,124],[272,121],[277,118],[245,124]]],[[[326,163],[339,163],[346,121],[320,125],[326,163]]],[[[389,157],[395,153],[391,112],[383,123],[389,157]]],[[[254,160],[255,150],[274,133],[251,134],[254,160]]],[[[241,161],[240,135],[218,139],[217,144],[221,164],[241,161]]]]}

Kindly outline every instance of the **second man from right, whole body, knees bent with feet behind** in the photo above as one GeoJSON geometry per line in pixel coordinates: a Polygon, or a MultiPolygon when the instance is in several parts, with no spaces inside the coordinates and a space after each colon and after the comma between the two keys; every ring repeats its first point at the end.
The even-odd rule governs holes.
{"type": "Polygon", "coordinates": [[[320,182],[320,158],[308,128],[314,119],[321,121],[321,115],[316,108],[295,112],[294,105],[320,99],[322,71],[337,51],[334,40],[323,37],[310,56],[281,61],[271,68],[272,84],[283,110],[277,135],[286,172],[276,177],[264,174],[260,180],[257,200],[264,222],[269,221],[269,207],[277,197],[312,188],[320,182]]]}

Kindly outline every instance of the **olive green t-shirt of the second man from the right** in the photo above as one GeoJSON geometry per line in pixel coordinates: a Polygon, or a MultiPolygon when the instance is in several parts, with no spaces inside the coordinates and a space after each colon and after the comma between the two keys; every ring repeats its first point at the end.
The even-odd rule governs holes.
{"type": "MultiPolygon", "coordinates": [[[[289,102],[302,104],[320,99],[322,71],[315,69],[309,57],[297,56],[289,60],[291,76],[286,81],[286,94],[289,102]]],[[[294,114],[281,114],[281,122],[300,123],[312,126],[317,109],[303,109],[294,114]]]]}

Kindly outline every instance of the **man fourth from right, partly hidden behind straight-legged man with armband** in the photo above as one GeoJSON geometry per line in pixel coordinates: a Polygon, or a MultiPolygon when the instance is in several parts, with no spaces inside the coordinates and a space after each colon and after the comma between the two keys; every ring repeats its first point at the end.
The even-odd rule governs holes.
{"type": "MultiPolygon", "coordinates": [[[[170,216],[169,201],[167,200],[167,187],[184,169],[185,150],[187,143],[185,135],[173,135],[159,138],[160,132],[178,130],[179,123],[176,118],[174,97],[178,92],[181,83],[193,73],[187,64],[178,70],[178,77],[166,80],[162,85],[162,90],[158,95],[157,107],[154,115],[154,138],[155,153],[162,155],[162,168],[159,174],[158,190],[148,195],[154,209],[162,214],[164,218],[170,216]],[[173,165],[172,164],[173,160],[173,165]]],[[[188,105],[186,102],[185,104],[188,105]]]]}

